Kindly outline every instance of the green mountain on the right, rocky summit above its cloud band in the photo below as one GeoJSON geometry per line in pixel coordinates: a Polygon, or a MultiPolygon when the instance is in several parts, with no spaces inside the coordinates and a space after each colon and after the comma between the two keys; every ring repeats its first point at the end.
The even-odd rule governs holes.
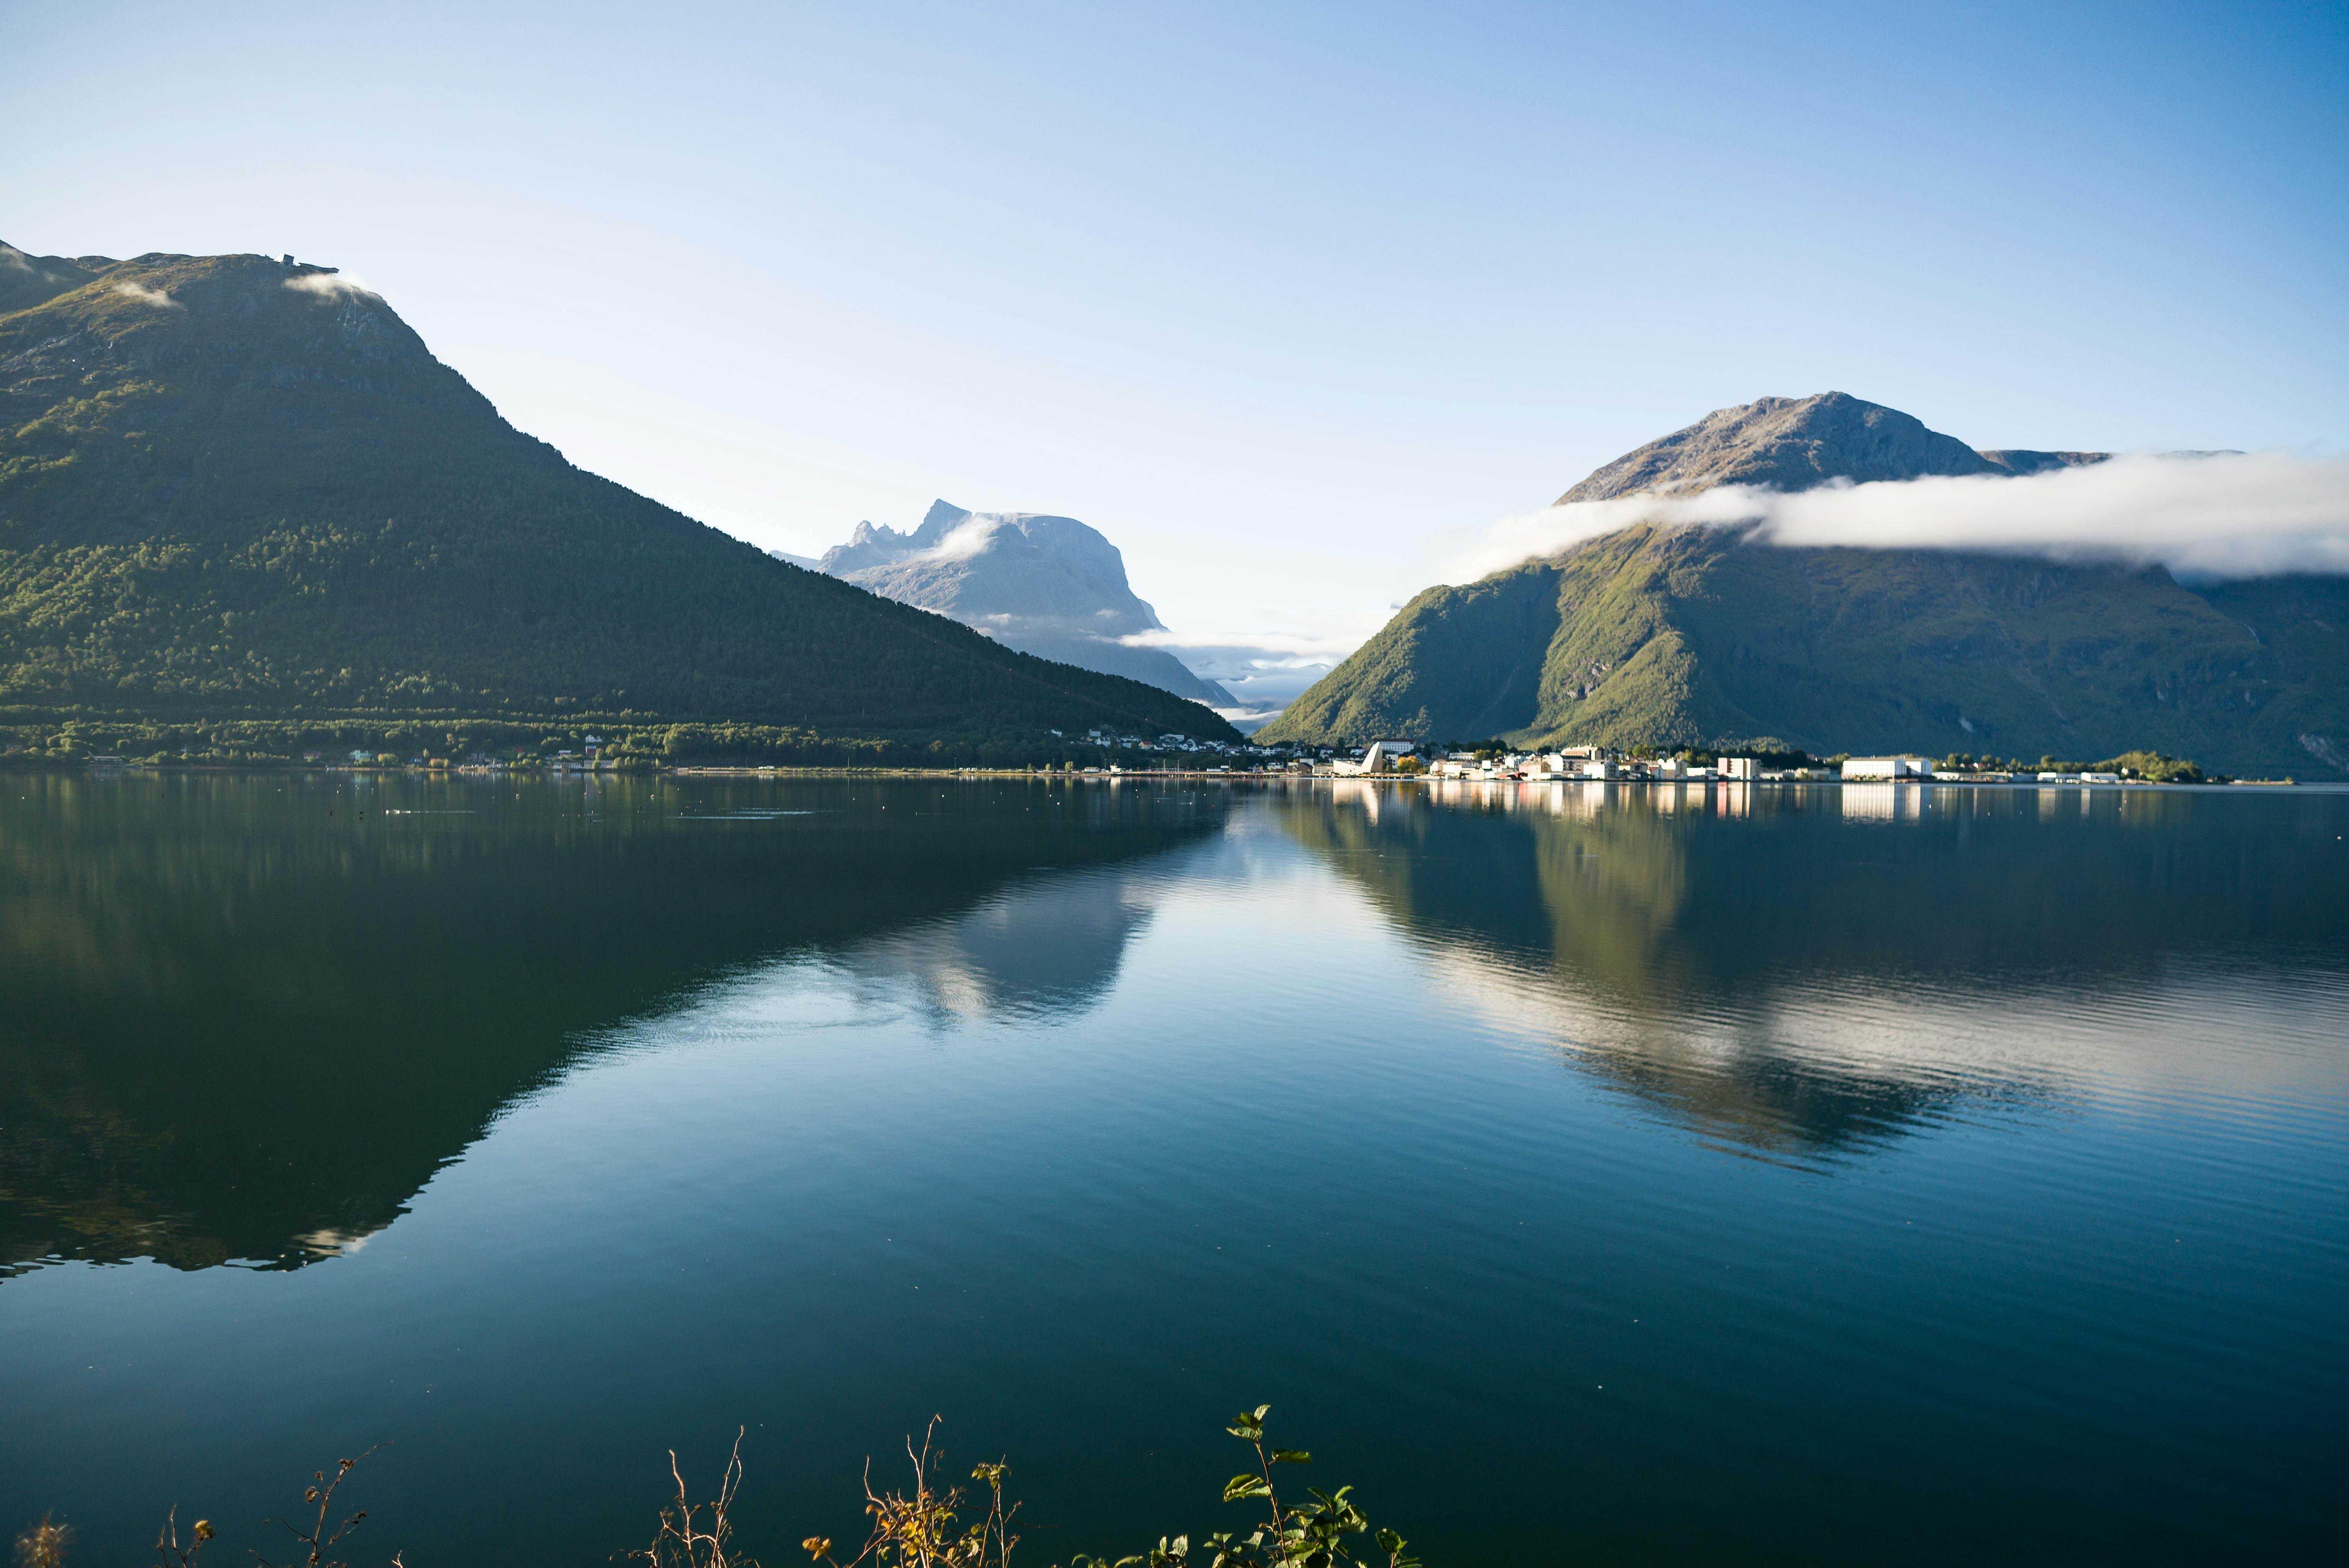
{"type": "MultiPolygon", "coordinates": [[[[1562,500],[2032,474],[1842,392],[1722,408],[1562,500]]],[[[1520,744],[2039,758],[2152,746],[2234,775],[2349,770],[2349,580],[2187,587],[2163,568],[1947,549],[1788,549],[1633,523],[1412,599],[1259,730],[1520,744]]]]}

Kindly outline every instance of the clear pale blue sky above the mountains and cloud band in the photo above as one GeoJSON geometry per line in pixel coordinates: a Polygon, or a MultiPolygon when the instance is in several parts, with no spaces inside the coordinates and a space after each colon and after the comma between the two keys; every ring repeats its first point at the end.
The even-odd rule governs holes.
{"type": "Polygon", "coordinates": [[[1764,394],[2342,453],[2344,82],[2340,5],[0,0],[0,239],[341,265],[752,542],[1059,512],[1330,657],[1764,394]]]}

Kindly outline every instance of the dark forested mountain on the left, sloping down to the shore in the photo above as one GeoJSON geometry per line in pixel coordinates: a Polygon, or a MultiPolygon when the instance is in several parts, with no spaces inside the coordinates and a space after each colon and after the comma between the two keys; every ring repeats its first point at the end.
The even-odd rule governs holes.
{"type": "Polygon", "coordinates": [[[1236,739],[1153,685],[796,570],[573,467],[331,268],[7,249],[0,286],[16,716],[1236,739]]]}

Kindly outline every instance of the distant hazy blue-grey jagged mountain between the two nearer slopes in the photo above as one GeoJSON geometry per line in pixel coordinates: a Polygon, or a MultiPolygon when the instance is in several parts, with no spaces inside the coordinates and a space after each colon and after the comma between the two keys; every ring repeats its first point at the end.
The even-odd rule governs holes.
{"type": "Polygon", "coordinates": [[[1238,707],[1165,648],[1118,641],[1165,627],[1128,587],[1118,547],[1073,516],[965,512],[940,500],[914,533],[857,523],[846,545],[824,552],[822,570],[951,615],[1005,648],[1238,707]]]}

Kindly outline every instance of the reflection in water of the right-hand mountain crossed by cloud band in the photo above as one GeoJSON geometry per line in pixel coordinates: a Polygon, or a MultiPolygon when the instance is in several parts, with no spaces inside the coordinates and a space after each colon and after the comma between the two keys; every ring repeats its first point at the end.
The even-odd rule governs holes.
{"type": "MultiPolygon", "coordinates": [[[[2328,803],[2304,829],[2330,843],[2328,803]]],[[[1818,1160],[2051,1103],[2022,1030],[2180,962],[2349,946],[2349,887],[2189,791],[1339,782],[1283,829],[1475,1012],[1729,1148],[1818,1160]],[[2196,833],[2175,829],[2203,812],[2196,833]],[[2046,833],[2072,817],[2077,833],[2046,833]],[[1875,836],[1853,824],[1898,826],[1875,836]],[[2170,829],[2170,831],[2161,831],[2170,829]],[[2039,993],[2037,1012],[2018,1007],[2039,993]],[[2022,1049],[2018,1049],[2022,1047],[2022,1049]]]]}

